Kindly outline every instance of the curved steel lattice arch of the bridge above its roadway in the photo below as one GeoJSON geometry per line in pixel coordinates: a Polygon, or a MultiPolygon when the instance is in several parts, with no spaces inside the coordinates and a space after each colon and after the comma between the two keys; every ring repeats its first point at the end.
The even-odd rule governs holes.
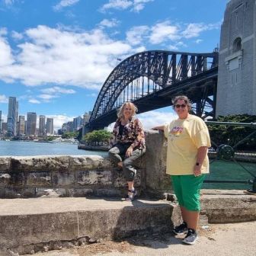
{"type": "Polygon", "coordinates": [[[166,91],[215,68],[217,64],[217,52],[152,50],[136,53],[120,62],[107,77],[89,122],[101,120],[125,101],[139,101],[158,91],[166,91]]]}

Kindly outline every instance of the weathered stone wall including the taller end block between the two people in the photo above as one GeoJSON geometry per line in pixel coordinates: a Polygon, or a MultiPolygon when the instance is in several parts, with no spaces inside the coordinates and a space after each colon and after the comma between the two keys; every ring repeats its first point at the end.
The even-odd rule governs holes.
{"type": "MultiPolygon", "coordinates": [[[[135,185],[156,194],[170,188],[165,174],[164,137],[146,133],[146,154],[137,162],[135,185]]],[[[99,155],[0,157],[0,197],[120,196],[123,171],[99,155]]]]}

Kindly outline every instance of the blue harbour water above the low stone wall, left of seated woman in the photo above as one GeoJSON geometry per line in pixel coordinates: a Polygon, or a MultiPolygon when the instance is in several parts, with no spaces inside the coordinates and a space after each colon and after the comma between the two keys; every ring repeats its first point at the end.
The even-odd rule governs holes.
{"type": "Polygon", "coordinates": [[[0,156],[28,156],[28,155],[101,155],[107,152],[78,149],[78,145],[69,143],[23,142],[0,140],[0,156]]]}

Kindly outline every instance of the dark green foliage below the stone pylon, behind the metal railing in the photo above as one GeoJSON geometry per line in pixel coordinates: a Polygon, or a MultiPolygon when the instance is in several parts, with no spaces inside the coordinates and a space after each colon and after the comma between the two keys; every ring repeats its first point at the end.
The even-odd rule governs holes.
{"type": "MultiPolygon", "coordinates": [[[[256,116],[247,114],[229,115],[226,117],[218,117],[218,122],[232,122],[232,123],[255,123],[256,116]]],[[[248,126],[228,126],[228,125],[209,125],[209,132],[212,142],[217,146],[227,144],[235,146],[238,142],[245,139],[255,131],[255,129],[248,126]]],[[[242,142],[236,149],[238,150],[255,150],[256,149],[256,135],[254,134],[245,142],[242,142]]]]}

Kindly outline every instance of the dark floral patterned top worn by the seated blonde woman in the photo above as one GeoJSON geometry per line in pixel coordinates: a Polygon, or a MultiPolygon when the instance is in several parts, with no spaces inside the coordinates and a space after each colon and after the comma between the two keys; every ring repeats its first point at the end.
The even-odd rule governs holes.
{"type": "Polygon", "coordinates": [[[131,143],[133,149],[146,148],[145,135],[142,128],[142,123],[139,121],[138,118],[132,117],[130,119],[130,122],[123,126],[123,133],[119,134],[121,125],[121,119],[118,118],[116,123],[114,124],[112,139],[110,139],[110,148],[115,146],[117,143],[131,143]]]}

